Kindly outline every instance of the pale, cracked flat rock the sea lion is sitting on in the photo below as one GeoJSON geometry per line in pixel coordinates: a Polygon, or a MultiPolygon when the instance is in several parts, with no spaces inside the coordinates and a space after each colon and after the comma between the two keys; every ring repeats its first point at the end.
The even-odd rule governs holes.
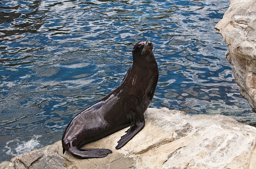
{"type": "Polygon", "coordinates": [[[148,108],[145,127],[121,149],[122,129],[84,147],[109,148],[104,158],[62,154],[61,141],[16,156],[0,168],[255,168],[256,128],[224,115],[187,115],[148,108]]]}

